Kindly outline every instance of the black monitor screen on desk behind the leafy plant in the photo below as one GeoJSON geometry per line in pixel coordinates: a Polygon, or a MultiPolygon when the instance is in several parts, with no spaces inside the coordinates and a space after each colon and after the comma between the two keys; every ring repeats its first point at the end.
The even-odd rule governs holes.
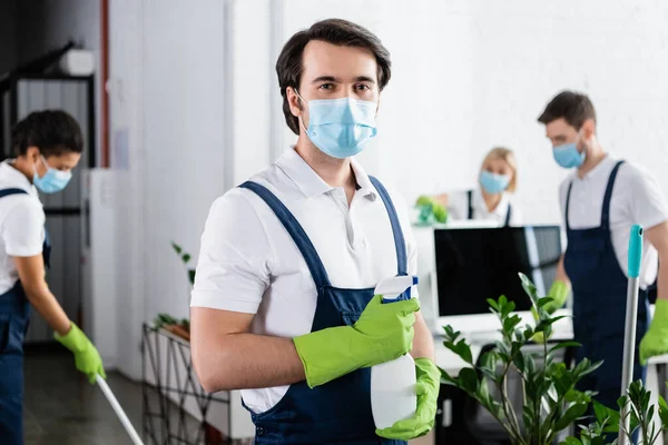
{"type": "Polygon", "coordinates": [[[515,310],[529,310],[518,273],[544,295],[561,256],[559,226],[438,229],[434,238],[442,317],[488,314],[488,298],[501,295],[514,301],[515,310]]]}

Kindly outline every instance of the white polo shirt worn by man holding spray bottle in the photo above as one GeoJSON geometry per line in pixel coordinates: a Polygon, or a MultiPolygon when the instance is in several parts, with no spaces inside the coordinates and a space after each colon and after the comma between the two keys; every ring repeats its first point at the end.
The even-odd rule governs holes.
{"type": "MultiPolygon", "coordinates": [[[[396,275],[394,237],[369,176],[354,160],[352,168],[358,189],[350,208],[344,189],[328,186],[294,149],[252,180],[267,187],[299,221],[333,286],[370,288],[396,275]]],[[[416,275],[407,209],[396,194],[390,195],[406,241],[409,274],[416,275]]],[[[311,332],[316,299],[302,254],[257,195],[235,188],[214,202],[202,236],[190,306],[255,314],[253,333],[294,338],[311,332]]],[[[248,389],[242,395],[250,409],[261,413],[287,388],[248,389]]]]}

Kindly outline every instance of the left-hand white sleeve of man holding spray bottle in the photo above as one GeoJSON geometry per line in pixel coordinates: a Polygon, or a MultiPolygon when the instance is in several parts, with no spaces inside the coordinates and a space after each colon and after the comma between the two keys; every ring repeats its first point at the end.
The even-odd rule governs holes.
{"type": "Polygon", "coordinates": [[[257,313],[271,264],[269,240],[245,191],[227,192],[212,206],[202,235],[190,306],[257,313]]]}

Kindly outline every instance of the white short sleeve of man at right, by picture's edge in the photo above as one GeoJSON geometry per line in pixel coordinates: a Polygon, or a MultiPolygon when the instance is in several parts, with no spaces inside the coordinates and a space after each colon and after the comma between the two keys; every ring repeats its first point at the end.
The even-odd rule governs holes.
{"type": "Polygon", "coordinates": [[[646,230],[668,220],[666,197],[654,176],[644,168],[629,166],[631,176],[631,194],[629,208],[633,224],[641,225],[646,230]]]}

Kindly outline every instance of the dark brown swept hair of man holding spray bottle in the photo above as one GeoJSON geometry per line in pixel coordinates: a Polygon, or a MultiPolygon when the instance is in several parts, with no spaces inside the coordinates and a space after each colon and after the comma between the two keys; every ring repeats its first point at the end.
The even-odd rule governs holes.
{"type": "Polygon", "coordinates": [[[281,96],[283,96],[283,113],[287,126],[295,135],[299,134],[299,120],[289,111],[287,87],[298,88],[303,71],[302,56],[304,48],[312,40],[369,49],[375,56],[379,66],[379,88],[383,90],[390,81],[390,52],[383,47],[381,40],[366,28],[342,19],[328,19],[297,32],[285,43],[276,61],[278,86],[281,96]]]}

